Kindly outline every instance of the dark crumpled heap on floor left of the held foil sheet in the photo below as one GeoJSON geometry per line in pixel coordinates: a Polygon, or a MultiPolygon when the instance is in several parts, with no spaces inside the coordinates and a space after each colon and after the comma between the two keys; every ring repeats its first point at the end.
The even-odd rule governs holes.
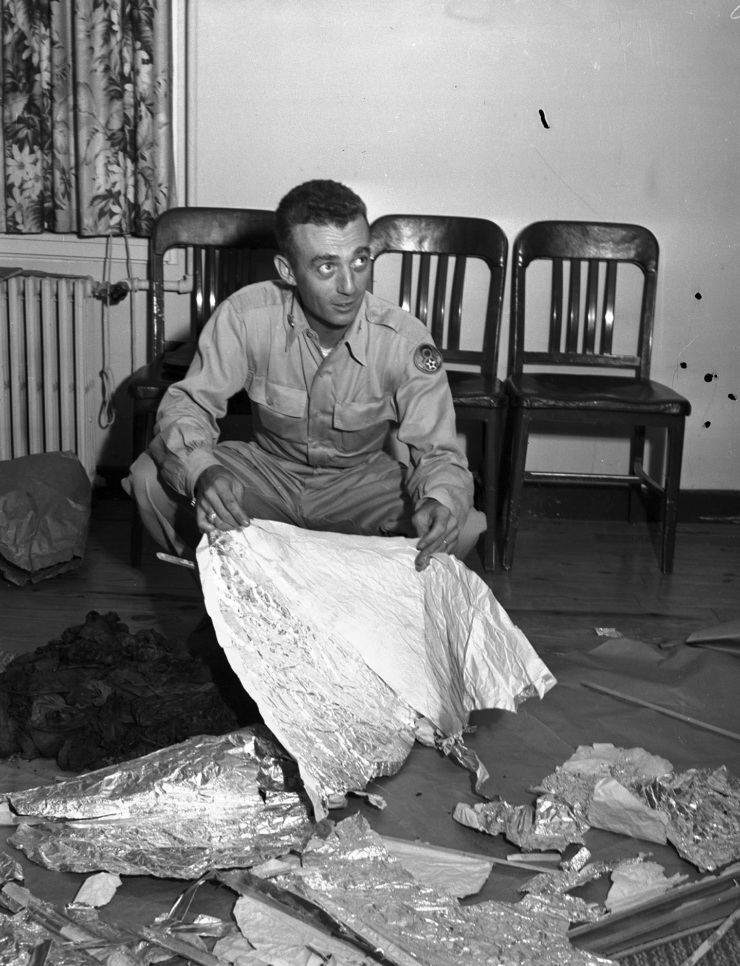
{"type": "Polygon", "coordinates": [[[103,768],[238,727],[206,663],[153,630],[91,611],[0,674],[0,755],[103,768]]]}

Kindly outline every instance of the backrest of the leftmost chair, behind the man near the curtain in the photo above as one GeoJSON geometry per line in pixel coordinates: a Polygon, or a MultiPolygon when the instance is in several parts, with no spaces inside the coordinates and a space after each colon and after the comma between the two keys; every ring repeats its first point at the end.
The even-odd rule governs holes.
{"type": "Polygon", "coordinates": [[[258,209],[173,208],[151,234],[151,330],[149,361],[164,350],[164,256],[171,248],[192,252],[191,332],[200,334],[210,313],[250,282],[276,278],[275,214],[258,209]]]}

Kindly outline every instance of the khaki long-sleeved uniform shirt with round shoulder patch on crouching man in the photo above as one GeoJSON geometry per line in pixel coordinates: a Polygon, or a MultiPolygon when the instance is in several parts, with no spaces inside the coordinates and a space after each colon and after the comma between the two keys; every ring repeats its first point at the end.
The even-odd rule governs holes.
{"type": "Polygon", "coordinates": [[[410,497],[433,497],[462,523],[473,478],[456,440],[450,387],[442,368],[414,361],[420,346],[432,345],[418,319],[366,293],[324,357],[292,288],[249,285],[218,306],[187,375],[165,394],[151,456],[178,493],[192,496],[201,472],[219,462],[216,419],[244,388],[260,447],[309,467],[355,467],[397,424],[411,459],[410,497]]]}

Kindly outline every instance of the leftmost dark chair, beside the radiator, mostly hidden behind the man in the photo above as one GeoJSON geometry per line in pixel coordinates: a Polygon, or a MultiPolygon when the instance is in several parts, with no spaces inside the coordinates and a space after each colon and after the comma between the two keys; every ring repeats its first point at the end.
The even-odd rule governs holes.
{"type": "MultiPolygon", "coordinates": [[[[154,416],[167,388],[181,379],[195,353],[202,328],[219,302],[251,282],[276,278],[274,212],[238,208],[173,208],[161,214],[151,235],[151,328],[148,363],[131,377],[127,392],[133,405],[132,461],[151,441],[154,416]],[[192,262],[190,338],[165,339],[164,256],[184,249],[192,262]]],[[[230,401],[230,414],[249,411],[240,392],[230,401]]],[[[134,507],[131,563],[141,563],[143,526],[134,507]]]]}

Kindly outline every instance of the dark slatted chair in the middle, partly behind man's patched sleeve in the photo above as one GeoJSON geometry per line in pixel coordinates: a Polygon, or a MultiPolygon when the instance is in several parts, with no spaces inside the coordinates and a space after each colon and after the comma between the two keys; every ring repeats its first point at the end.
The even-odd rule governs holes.
{"type": "Polygon", "coordinates": [[[458,419],[483,425],[482,509],[488,527],[483,537],[483,566],[494,569],[502,412],[506,396],[496,377],[499,330],[507,271],[507,237],[493,221],[447,215],[388,214],[370,226],[373,266],[389,252],[402,254],[398,304],[429,328],[447,363],[452,401],[458,419]],[[415,267],[414,256],[419,256],[415,267]],[[435,270],[432,259],[436,256],[435,270]],[[452,285],[448,286],[453,260],[452,285]],[[461,349],[462,305],[468,259],[488,267],[490,281],[480,349],[461,349]],[[416,281],[415,298],[412,282],[416,281]],[[448,288],[450,294],[448,296],[448,288]],[[475,366],[478,372],[453,371],[450,365],[475,366]]]}

